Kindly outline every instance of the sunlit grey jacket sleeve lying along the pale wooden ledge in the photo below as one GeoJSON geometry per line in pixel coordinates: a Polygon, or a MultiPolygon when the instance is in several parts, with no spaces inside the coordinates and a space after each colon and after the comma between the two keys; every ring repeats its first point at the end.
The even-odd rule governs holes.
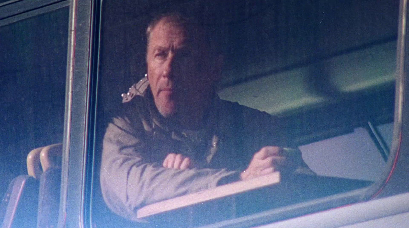
{"type": "Polygon", "coordinates": [[[122,217],[137,221],[142,206],[238,180],[238,172],[226,169],[176,170],[150,162],[142,134],[128,119],[116,117],[103,139],[101,190],[108,207],[122,217]]]}

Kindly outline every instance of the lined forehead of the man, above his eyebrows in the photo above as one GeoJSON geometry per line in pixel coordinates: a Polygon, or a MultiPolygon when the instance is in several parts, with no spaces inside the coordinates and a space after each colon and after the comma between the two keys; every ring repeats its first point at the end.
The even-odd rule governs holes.
{"type": "Polygon", "coordinates": [[[152,29],[148,46],[168,45],[174,42],[182,44],[186,42],[186,39],[186,29],[182,25],[164,18],[152,29]]]}

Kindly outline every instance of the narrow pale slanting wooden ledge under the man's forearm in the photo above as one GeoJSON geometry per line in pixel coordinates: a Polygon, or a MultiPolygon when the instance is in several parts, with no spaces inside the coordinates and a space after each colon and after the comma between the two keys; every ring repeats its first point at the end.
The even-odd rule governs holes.
{"type": "Polygon", "coordinates": [[[137,211],[137,218],[142,219],[151,215],[160,214],[170,210],[192,206],[198,203],[220,199],[238,193],[247,192],[257,188],[280,183],[280,172],[273,172],[262,177],[246,181],[236,181],[233,183],[218,186],[216,188],[195,192],[192,194],[167,199],[157,203],[144,206],[137,211]]]}

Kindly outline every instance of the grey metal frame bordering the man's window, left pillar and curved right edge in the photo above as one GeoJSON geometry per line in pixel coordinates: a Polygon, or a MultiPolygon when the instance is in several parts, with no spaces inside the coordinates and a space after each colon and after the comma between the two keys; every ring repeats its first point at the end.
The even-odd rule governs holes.
{"type": "MultiPolygon", "coordinates": [[[[72,0],[70,2],[67,95],[58,220],[58,227],[61,228],[91,226],[90,200],[92,176],[94,175],[94,127],[96,125],[96,99],[99,81],[101,3],[101,0],[72,0]]],[[[406,25],[406,21],[409,19],[407,5],[407,0],[400,1],[393,142],[387,163],[389,168],[384,170],[382,177],[368,188],[226,220],[206,227],[258,226],[368,201],[377,195],[384,197],[407,191],[402,189],[402,186],[409,185],[409,177],[403,175],[405,174],[403,165],[406,161],[403,160],[405,156],[400,156],[400,153],[409,153],[409,143],[406,143],[409,142],[406,133],[409,131],[409,121],[407,120],[409,107],[404,105],[405,101],[409,99],[409,85],[406,83],[408,76],[405,73],[409,64],[409,60],[406,58],[409,54],[409,49],[406,47],[408,43],[406,34],[409,31],[406,25]],[[401,161],[399,162],[398,159],[401,161]],[[406,185],[405,183],[402,184],[402,177],[406,185]],[[385,183],[388,185],[385,186],[385,183]]]]}

